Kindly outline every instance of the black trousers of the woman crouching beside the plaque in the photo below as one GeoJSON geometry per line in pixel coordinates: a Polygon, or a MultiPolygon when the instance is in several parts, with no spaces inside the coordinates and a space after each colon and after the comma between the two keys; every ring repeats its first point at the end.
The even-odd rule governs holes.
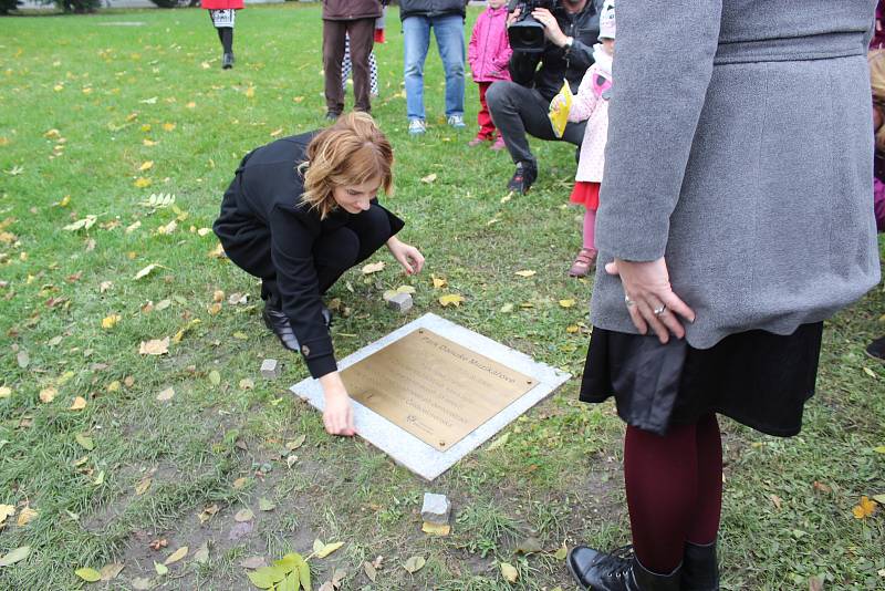
{"type": "MultiPolygon", "coordinates": [[[[277,268],[271,257],[271,235],[264,226],[233,227],[216,224],[225,253],[237,267],[261,279],[261,298],[281,305],[277,289],[277,268]]],[[[314,269],[320,293],[329,291],[344,272],[360,265],[391,238],[387,214],[373,205],[351,216],[341,228],[320,235],[313,247],[314,269]]]]}

